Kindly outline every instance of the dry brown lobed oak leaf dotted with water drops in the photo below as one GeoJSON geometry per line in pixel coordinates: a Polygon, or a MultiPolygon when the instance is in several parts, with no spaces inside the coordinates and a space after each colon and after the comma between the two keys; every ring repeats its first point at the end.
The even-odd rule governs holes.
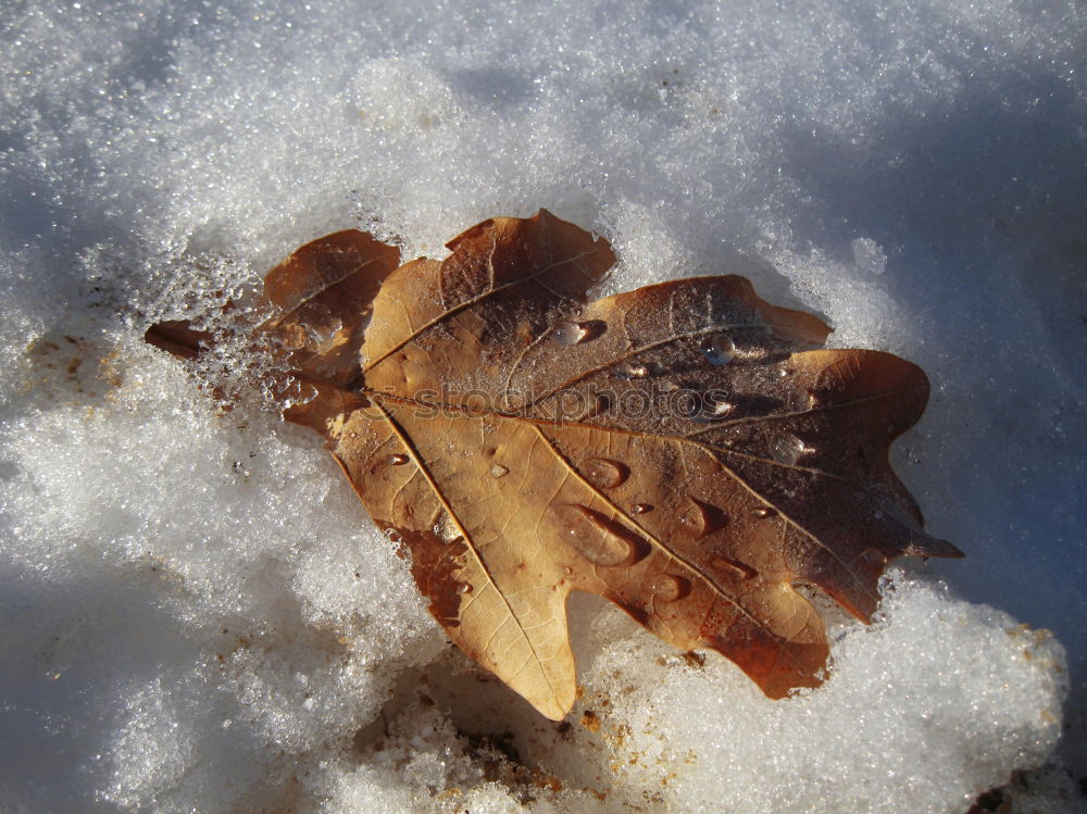
{"type": "Polygon", "coordinates": [[[961,556],[887,459],[927,400],[919,367],[822,349],[820,320],[735,276],[587,303],[613,254],[544,211],[449,248],[375,263],[350,297],[292,259],[267,329],[316,337],[293,359],[318,395],[287,417],[325,435],[450,638],[548,717],[574,701],[572,590],[780,698],[828,653],[795,586],[867,621],[889,559],[961,556]]]}

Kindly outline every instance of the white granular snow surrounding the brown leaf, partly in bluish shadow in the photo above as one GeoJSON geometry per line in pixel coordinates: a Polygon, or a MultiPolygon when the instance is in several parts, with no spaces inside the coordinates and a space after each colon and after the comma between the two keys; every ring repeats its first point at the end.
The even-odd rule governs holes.
{"type": "Polygon", "coordinates": [[[955,813],[1062,728],[1087,771],[1085,54],[1075,0],[0,5],[0,809],[955,813]],[[969,559],[833,616],[824,688],[579,599],[544,722],[315,438],[140,339],[325,231],[540,206],[609,291],[738,272],[928,372],[898,466],[969,559]]]}

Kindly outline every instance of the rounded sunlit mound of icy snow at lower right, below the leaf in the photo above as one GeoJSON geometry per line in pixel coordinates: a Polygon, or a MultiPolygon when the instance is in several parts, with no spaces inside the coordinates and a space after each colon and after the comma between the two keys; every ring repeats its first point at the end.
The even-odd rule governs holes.
{"type": "Polygon", "coordinates": [[[892,579],[873,627],[832,631],[830,680],[780,703],[712,655],[677,668],[653,648],[607,648],[594,675],[621,784],[658,788],[678,811],[959,814],[1044,762],[1066,691],[1061,646],[938,586],[892,579]]]}

